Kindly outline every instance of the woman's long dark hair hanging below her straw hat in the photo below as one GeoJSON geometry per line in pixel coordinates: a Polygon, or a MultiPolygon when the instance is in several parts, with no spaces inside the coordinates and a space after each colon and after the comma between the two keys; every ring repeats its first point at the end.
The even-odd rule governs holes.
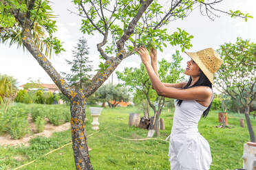
{"type": "MultiPolygon", "coordinates": [[[[209,81],[209,79],[204,75],[204,73],[201,70],[200,70],[200,75],[199,75],[198,81],[195,82],[195,84],[193,84],[191,87],[189,87],[191,82],[192,82],[192,77],[190,76],[189,77],[189,82],[182,89],[191,88],[191,87],[195,87],[195,86],[209,86],[210,88],[213,88],[211,82],[209,81]]],[[[182,101],[183,100],[178,99],[177,105],[180,106],[182,104],[182,101]]],[[[211,104],[212,103],[213,103],[213,101],[211,101],[211,104]]],[[[210,108],[211,108],[211,104],[204,111],[204,113],[202,114],[202,117],[204,117],[204,118],[207,117],[207,115],[208,115],[208,113],[210,111],[210,108]]]]}

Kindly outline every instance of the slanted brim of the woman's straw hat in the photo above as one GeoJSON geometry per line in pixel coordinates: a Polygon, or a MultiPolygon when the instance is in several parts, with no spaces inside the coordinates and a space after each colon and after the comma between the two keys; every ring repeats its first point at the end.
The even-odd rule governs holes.
{"type": "Polygon", "coordinates": [[[198,64],[201,71],[204,73],[204,75],[208,78],[208,80],[213,84],[213,73],[211,73],[208,69],[206,69],[206,66],[203,64],[202,60],[200,60],[198,53],[191,53],[186,52],[185,53],[191,57],[196,64],[198,64]]]}

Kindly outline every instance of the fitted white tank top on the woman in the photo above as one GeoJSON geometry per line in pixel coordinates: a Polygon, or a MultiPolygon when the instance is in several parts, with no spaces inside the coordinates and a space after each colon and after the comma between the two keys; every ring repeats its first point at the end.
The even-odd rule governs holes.
{"type": "MultiPolygon", "coordinates": [[[[213,101],[213,96],[211,101],[213,101]]],[[[198,121],[203,112],[208,108],[202,106],[195,100],[183,100],[180,106],[177,105],[177,99],[174,99],[175,112],[173,116],[173,127],[171,128],[171,135],[186,134],[191,132],[198,132],[198,121]]]]}

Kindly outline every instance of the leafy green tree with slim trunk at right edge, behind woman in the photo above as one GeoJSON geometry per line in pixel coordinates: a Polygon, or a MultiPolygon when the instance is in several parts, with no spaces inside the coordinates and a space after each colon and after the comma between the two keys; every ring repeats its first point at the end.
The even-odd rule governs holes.
{"type": "Polygon", "coordinates": [[[238,99],[238,105],[244,107],[250,141],[255,142],[249,112],[256,98],[256,44],[237,38],[235,43],[221,45],[218,52],[223,64],[215,75],[215,82],[222,93],[238,99]]]}

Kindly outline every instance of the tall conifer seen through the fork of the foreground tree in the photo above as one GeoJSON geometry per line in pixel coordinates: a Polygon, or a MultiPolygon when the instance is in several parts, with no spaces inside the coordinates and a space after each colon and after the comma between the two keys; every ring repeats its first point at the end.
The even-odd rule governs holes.
{"type": "Polygon", "coordinates": [[[92,71],[92,65],[89,64],[89,47],[87,46],[87,40],[81,38],[78,40],[75,50],[73,53],[73,60],[66,60],[68,65],[71,65],[72,73],[63,73],[65,80],[70,86],[75,86],[76,88],[85,88],[89,85],[89,78],[92,75],[89,74],[92,71]]]}

